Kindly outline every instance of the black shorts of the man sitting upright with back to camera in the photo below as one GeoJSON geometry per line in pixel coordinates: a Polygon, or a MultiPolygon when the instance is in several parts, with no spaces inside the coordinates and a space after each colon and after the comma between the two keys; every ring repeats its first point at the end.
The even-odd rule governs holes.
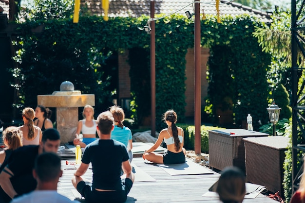
{"type": "Polygon", "coordinates": [[[87,185],[84,181],[80,181],[76,189],[87,203],[124,203],[132,186],[133,181],[126,178],[122,179],[122,190],[101,192],[93,189],[92,186],[87,185]]]}

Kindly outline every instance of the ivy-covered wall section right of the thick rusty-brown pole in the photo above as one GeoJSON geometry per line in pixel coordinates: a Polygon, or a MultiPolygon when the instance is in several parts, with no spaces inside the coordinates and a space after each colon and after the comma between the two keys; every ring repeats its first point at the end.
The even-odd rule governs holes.
{"type": "Polygon", "coordinates": [[[234,123],[239,127],[251,114],[254,130],[258,130],[259,122],[268,121],[266,74],[271,61],[252,36],[255,27],[262,24],[251,17],[237,17],[210,26],[218,31],[213,37],[210,30],[203,32],[204,38],[212,40],[208,91],[213,115],[219,106],[222,110],[232,109],[234,123]]]}

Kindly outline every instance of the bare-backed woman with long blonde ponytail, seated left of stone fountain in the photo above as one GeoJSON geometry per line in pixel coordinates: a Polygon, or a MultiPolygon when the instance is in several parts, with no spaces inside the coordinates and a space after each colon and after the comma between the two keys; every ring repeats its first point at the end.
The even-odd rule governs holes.
{"type": "Polygon", "coordinates": [[[39,145],[42,132],[39,127],[34,125],[33,119],[35,118],[34,109],[27,107],[22,111],[22,119],[24,125],[19,126],[22,132],[22,144],[24,145],[39,145]]]}

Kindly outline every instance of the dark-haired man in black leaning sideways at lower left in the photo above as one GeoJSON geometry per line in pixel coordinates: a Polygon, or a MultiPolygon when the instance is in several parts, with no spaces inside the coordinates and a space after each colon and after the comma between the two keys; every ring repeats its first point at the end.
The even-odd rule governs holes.
{"type": "Polygon", "coordinates": [[[0,171],[0,203],[9,203],[16,196],[35,190],[33,177],[35,159],[42,152],[57,153],[60,136],[56,129],[43,132],[40,144],[27,145],[14,150],[6,167],[0,171]]]}

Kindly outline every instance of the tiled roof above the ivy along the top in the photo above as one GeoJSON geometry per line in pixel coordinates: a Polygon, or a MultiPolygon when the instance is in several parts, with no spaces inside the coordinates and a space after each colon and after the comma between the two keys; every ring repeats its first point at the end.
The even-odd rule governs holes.
{"type": "MultiPolygon", "coordinates": [[[[109,0],[109,17],[140,17],[150,16],[151,0],[109,0]]],[[[171,14],[176,12],[185,15],[186,11],[193,13],[192,0],[155,0],[155,14],[171,14]],[[184,8],[185,7],[185,8],[184,8]]],[[[201,0],[200,10],[204,13],[216,15],[215,0],[201,0]]],[[[101,7],[101,0],[89,0],[82,2],[86,4],[92,15],[104,15],[101,7]]],[[[81,9],[81,8],[80,8],[81,9]]],[[[265,22],[271,22],[270,16],[266,12],[243,6],[229,0],[221,0],[219,5],[220,15],[241,15],[249,14],[261,18],[265,22]]]]}

